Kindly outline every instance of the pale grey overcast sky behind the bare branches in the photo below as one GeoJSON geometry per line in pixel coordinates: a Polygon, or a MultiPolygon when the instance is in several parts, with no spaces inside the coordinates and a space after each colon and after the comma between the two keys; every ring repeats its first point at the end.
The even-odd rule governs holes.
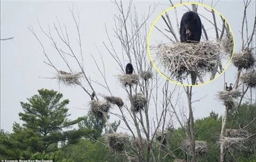
{"type": "MultiPolygon", "coordinates": [[[[179,1],[174,1],[174,4],[178,3],[179,1]]],[[[124,5],[127,4],[127,1],[124,2],[124,5]]],[[[204,1],[204,4],[211,5],[211,1],[204,1]]],[[[137,7],[139,16],[148,12],[149,5],[157,5],[155,12],[148,21],[149,26],[159,14],[170,7],[169,1],[134,1],[134,5],[137,7]]],[[[234,32],[235,52],[241,49],[242,41],[239,31],[241,31],[243,6],[243,1],[219,1],[214,7],[215,10],[225,16],[234,32]]],[[[95,71],[95,64],[91,57],[91,55],[94,55],[95,58],[99,58],[99,49],[103,54],[106,71],[108,71],[107,79],[110,89],[113,90],[114,95],[128,101],[125,91],[119,86],[116,79],[116,76],[120,73],[117,70],[117,64],[109,57],[106,48],[102,44],[103,41],[107,42],[106,24],[114,46],[121,53],[120,44],[113,36],[114,32],[112,31],[114,27],[113,16],[117,13],[115,4],[110,1],[1,1],[1,39],[14,37],[12,40],[1,41],[1,129],[11,132],[14,121],[21,123],[18,116],[18,113],[22,111],[20,101],[27,102],[27,98],[37,94],[37,90],[41,88],[57,90],[63,93],[63,98],[70,100],[68,108],[71,120],[86,115],[89,109],[90,97],[86,95],[83,89],[80,87],[63,87],[57,80],[39,78],[53,77],[55,71],[52,67],[43,63],[46,58],[42,52],[42,47],[28,30],[29,26],[33,27],[55,66],[59,70],[68,71],[65,64],[60,62],[60,57],[51,46],[50,40],[42,34],[37,19],[47,31],[48,25],[52,27],[53,22],[57,22],[57,16],[61,25],[67,25],[70,40],[73,42],[72,46],[79,52],[76,44],[75,25],[69,12],[70,7],[74,7],[75,11],[78,9],[80,14],[81,40],[86,73],[91,78],[100,80],[99,72],[95,71]]],[[[180,11],[180,13],[183,14],[185,11],[180,11]]],[[[179,15],[179,20],[181,16],[179,15]]],[[[252,31],[254,16],[255,1],[252,1],[247,12],[249,33],[252,31]]],[[[159,21],[162,21],[162,19],[159,21]]],[[[51,31],[53,30],[51,28],[51,31]]],[[[154,39],[157,38],[158,36],[154,36],[154,39]]],[[[127,57],[125,59],[128,60],[127,57]]],[[[75,62],[71,62],[70,65],[74,71],[79,71],[75,62]]],[[[155,69],[153,71],[155,72],[155,69]]],[[[225,75],[228,83],[234,83],[236,68],[230,65],[225,75]]],[[[214,96],[217,91],[223,89],[223,76],[221,75],[213,82],[195,88],[193,100],[206,96],[200,102],[194,103],[195,118],[208,116],[212,110],[220,115],[224,113],[224,107],[215,100],[214,96]]],[[[97,84],[93,86],[97,92],[101,91],[101,87],[97,84]]],[[[171,87],[174,87],[174,84],[171,87]]],[[[186,104],[186,98],[183,100],[186,104]]],[[[113,112],[115,111],[117,110],[113,109],[113,112]]],[[[152,114],[154,115],[154,112],[152,114]]],[[[114,120],[117,120],[117,118],[110,118],[110,121],[114,120]]],[[[124,126],[124,123],[121,126],[124,126]]],[[[119,129],[118,131],[124,130],[119,129]]]]}

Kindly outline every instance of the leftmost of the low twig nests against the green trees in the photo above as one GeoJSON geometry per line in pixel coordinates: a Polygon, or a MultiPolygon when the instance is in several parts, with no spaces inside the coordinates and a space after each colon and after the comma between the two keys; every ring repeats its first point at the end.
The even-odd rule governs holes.
{"type": "Polygon", "coordinates": [[[117,152],[122,152],[125,149],[127,134],[111,133],[106,135],[108,147],[117,152]]]}

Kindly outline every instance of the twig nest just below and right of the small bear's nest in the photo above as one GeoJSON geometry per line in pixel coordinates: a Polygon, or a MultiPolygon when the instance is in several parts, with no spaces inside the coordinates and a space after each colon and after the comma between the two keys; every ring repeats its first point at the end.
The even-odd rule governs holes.
{"type": "Polygon", "coordinates": [[[131,108],[132,112],[138,113],[139,110],[147,105],[148,99],[145,95],[136,94],[132,96],[133,106],[131,108]]]}

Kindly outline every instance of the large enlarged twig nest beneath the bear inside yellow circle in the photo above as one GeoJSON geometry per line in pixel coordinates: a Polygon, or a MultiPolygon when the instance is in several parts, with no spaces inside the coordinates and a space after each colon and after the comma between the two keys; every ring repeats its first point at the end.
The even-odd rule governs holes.
{"type": "Polygon", "coordinates": [[[224,42],[225,39],[162,44],[156,50],[157,59],[170,72],[173,79],[185,79],[191,71],[197,75],[205,75],[218,65],[221,58],[227,58],[229,55],[222,48],[224,42]]]}

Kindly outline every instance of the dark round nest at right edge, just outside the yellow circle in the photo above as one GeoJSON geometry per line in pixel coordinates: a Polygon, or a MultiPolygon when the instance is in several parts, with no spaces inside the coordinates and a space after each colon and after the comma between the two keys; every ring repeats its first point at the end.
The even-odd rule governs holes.
{"type": "Polygon", "coordinates": [[[252,54],[252,50],[243,49],[233,56],[232,62],[237,69],[251,69],[255,65],[255,57],[252,54]]]}

